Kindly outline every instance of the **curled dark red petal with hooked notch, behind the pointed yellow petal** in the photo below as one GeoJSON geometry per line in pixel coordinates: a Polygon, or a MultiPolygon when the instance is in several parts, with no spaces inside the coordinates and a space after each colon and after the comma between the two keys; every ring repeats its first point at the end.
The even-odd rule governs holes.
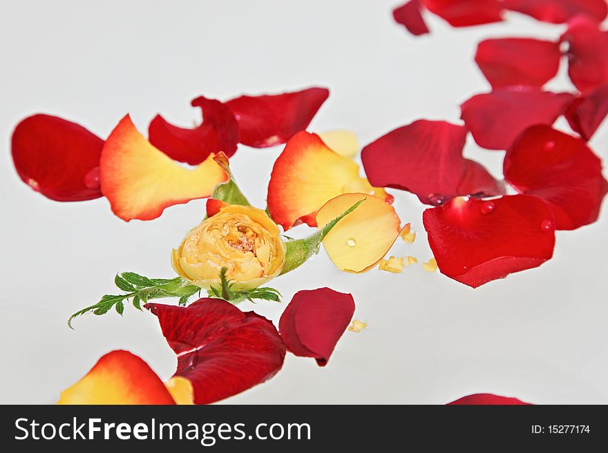
{"type": "Polygon", "coordinates": [[[167,123],[160,114],[148,127],[149,141],[175,161],[198,165],[209,154],[224,152],[230,157],[238,143],[238,123],[232,110],[220,101],[198,97],[193,107],[200,107],[202,123],[196,128],[179,128],[167,123]]]}

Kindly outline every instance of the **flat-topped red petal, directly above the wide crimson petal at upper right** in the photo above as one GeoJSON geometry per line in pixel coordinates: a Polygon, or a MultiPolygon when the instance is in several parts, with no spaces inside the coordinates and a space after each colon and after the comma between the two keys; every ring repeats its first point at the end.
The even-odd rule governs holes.
{"type": "Polygon", "coordinates": [[[477,46],[475,61],[493,88],[542,86],[560,67],[560,43],[527,38],[486,39],[477,46]]]}

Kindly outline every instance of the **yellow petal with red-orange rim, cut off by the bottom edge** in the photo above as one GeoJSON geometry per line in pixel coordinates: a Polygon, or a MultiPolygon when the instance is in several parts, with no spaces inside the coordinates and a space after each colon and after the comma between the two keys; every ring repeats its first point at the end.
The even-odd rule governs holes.
{"type": "Polygon", "coordinates": [[[58,404],[175,404],[158,375],[140,357],[116,350],[61,392],[58,404]]]}

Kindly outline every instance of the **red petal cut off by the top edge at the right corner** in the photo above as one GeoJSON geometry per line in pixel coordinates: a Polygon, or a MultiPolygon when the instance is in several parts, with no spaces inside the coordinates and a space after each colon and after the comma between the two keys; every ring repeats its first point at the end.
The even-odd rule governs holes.
{"type": "Polygon", "coordinates": [[[504,0],[503,6],[549,23],[564,23],[577,14],[603,21],[608,12],[606,0],[504,0]]]}

